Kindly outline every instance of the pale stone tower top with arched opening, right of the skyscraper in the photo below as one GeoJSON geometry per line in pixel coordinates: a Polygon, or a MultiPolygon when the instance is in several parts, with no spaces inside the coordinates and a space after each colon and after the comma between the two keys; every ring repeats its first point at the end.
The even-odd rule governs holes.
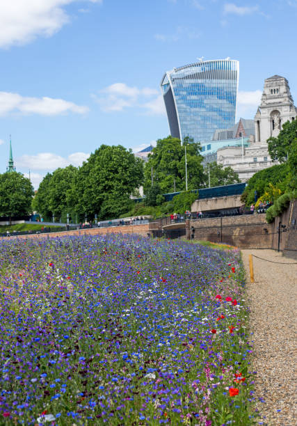
{"type": "Polygon", "coordinates": [[[294,107],[289,83],[280,75],[273,75],[264,81],[261,104],[255,115],[256,142],[266,142],[271,136],[277,137],[286,121],[295,120],[294,107]]]}

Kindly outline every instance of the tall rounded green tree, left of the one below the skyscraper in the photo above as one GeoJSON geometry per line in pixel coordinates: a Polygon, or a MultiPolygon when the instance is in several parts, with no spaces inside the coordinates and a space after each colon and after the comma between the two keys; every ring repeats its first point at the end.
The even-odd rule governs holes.
{"type": "Polygon", "coordinates": [[[88,218],[109,219],[129,210],[129,196],[142,183],[142,159],[121,145],[101,145],[79,168],[72,198],[88,218]]]}

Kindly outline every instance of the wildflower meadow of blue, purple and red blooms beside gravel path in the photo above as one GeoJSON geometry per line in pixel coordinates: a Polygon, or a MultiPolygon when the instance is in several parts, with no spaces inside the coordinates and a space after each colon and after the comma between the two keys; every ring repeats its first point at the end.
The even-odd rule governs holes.
{"type": "Polygon", "coordinates": [[[0,241],[0,425],[252,425],[240,253],[0,241]]]}

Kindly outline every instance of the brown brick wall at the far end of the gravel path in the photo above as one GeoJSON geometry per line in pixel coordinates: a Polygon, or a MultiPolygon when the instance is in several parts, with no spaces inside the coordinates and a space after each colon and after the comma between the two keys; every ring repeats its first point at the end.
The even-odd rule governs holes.
{"type": "Polygon", "coordinates": [[[223,242],[239,248],[271,248],[272,226],[266,223],[265,214],[189,220],[186,223],[188,238],[192,226],[195,239],[223,242]]]}

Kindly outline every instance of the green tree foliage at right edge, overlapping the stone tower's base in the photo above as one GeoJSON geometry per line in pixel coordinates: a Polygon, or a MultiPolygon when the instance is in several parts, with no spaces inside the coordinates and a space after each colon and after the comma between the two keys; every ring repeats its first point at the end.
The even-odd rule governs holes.
{"type": "Polygon", "coordinates": [[[267,139],[267,143],[269,154],[273,160],[281,163],[287,161],[288,155],[290,157],[291,150],[297,144],[297,120],[284,123],[278,137],[267,139]]]}

